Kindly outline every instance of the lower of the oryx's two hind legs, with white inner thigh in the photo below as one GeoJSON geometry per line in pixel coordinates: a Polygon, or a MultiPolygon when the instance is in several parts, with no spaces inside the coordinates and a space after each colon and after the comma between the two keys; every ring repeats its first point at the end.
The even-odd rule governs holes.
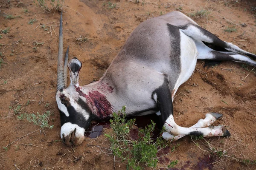
{"type": "Polygon", "coordinates": [[[210,60],[233,60],[235,62],[244,62],[246,64],[256,67],[256,62],[252,59],[245,57],[241,54],[231,51],[215,51],[209,48],[201,41],[195,40],[196,48],[198,49],[198,59],[210,59],[210,60]]]}

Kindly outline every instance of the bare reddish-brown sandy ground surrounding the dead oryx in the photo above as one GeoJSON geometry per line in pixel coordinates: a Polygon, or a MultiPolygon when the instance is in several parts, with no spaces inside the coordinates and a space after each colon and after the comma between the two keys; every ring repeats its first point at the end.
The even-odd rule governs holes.
{"type": "MultiPolygon", "coordinates": [[[[103,153],[99,147],[86,145],[91,142],[95,146],[109,147],[110,143],[103,135],[96,140],[86,138],[83,144],[73,147],[60,141],[60,118],[55,102],[60,14],[55,11],[47,14],[36,6],[37,3],[36,0],[0,1],[0,28],[10,28],[8,34],[1,33],[0,39],[0,57],[5,62],[0,68],[0,169],[52,170],[54,167],[55,170],[78,170],[80,167],[84,170],[113,170],[113,155],[103,153]],[[24,14],[24,9],[28,9],[28,13],[24,14]],[[5,20],[6,14],[20,17],[5,20]],[[31,19],[38,22],[29,25],[31,19]],[[39,24],[45,24],[48,30],[44,31],[39,24]],[[44,44],[35,49],[35,42],[44,44]],[[51,111],[49,124],[54,125],[53,129],[43,132],[32,122],[18,120],[21,113],[14,116],[14,108],[19,104],[21,113],[51,111]],[[26,134],[29,135],[11,144],[7,150],[3,149],[26,134]]],[[[211,11],[208,17],[193,19],[222,40],[256,53],[256,3],[253,1],[140,0],[137,4],[129,0],[112,0],[111,3],[116,4],[116,8],[108,8],[108,1],[64,2],[64,49],[70,45],[70,58],[78,57],[83,64],[80,85],[104,74],[128,36],[142,21],[175,10],[187,15],[203,8],[211,11]],[[241,25],[243,23],[245,27],[241,25]],[[227,27],[236,28],[236,32],[225,32],[227,27]],[[86,37],[87,42],[78,41],[80,37],[86,37]]],[[[166,165],[176,159],[178,164],[173,170],[256,169],[256,165],[237,161],[256,160],[255,70],[231,61],[209,69],[203,66],[204,61],[198,61],[193,76],[177,91],[175,120],[178,125],[189,127],[204,118],[207,112],[222,113],[223,117],[214,125],[226,125],[232,136],[206,140],[215,149],[226,150],[226,156],[219,158],[209,152],[204,140],[195,141],[197,146],[186,136],[171,144],[170,147],[180,146],[164,156],[156,169],[167,169],[166,165]]],[[[105,128],[103,133],[110,131],[105,128]]],[[[162,154],[169,150],[163,150],[162,154]]],[[[125,162],[117,158],[115,167],[116,170],[126,169],[125,162]]]]}

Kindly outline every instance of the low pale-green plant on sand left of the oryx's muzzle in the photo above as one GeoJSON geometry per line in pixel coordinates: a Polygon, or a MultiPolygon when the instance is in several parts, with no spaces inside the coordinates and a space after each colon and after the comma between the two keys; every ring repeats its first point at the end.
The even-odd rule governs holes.
{"type": "Polygon", "coordinates": [[[50,111],[47,111],[43,114],[39,114],[39,113],[23,113],[20,114],[19,116],[17,116],[17,119],[19,120],[23,120],[23,119],[27,119],[29,122],[33,122],[35,125],[41,127],[41,128],[49,128],[52,129],[53,125],[49,125],[49,116],[51,115],[50,111]]]}

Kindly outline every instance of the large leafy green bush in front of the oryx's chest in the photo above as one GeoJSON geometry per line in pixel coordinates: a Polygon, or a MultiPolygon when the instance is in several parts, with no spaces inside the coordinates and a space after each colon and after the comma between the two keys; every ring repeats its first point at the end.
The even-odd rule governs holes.
{"type": "MultiPolygon", "coordinates": [[[[143,166],[157,166],[157,151],[166,147],[167,142],[162,136],[156,141],[152,140],[151,135],[156,125],[154,122],[151,122],[145,129],[139,129],[138,139],[132,139],[129,136],[135,119],[125,122],[125,107],[117,114],[113,113],[113,119],[110,122],[113,133],[105,134],[105,136],[111,142],[113,154],[127,161],[127,169],[141,170],[143,166]]],[[[175,164],[177,161],[172,161],[169,166],[173,167],[175,164]]]]}

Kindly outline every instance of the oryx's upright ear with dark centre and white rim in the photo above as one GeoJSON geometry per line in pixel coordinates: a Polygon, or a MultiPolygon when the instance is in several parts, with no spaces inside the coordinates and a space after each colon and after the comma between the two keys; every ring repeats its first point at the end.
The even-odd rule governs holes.
{"type": "Polygon", "coordinates": [[[74,57],[73,59],[70,60],[68,63],[68,69],[70,71],[70,84],[76,85],[78,84],[78,75],[79,71],[82,68],[82,63],[74,57]]]}

